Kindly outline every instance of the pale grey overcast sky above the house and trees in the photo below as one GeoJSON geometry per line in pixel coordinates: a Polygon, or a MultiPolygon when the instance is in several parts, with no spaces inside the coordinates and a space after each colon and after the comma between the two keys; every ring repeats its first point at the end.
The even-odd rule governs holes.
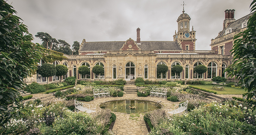
{"type": "MultiPolygon", "coordinates": [[[[196,31],[196,50],[210,50],[211,39],[222,30],[224,11],[235,9],[235,19],[250,13],[252,0],[185,0],[190,30],[196,31]]],[[[17,16],[42,43],[37,32],[49,33],[71,46],[90,41],[173,41],[183,0],[9,0],[17,16]]]]}

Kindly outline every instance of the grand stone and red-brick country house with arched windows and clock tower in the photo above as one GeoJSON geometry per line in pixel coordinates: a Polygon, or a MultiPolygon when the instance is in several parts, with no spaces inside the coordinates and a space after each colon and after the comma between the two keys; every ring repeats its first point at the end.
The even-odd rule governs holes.
{"type": "MultiPolygon", "coordinates": [[[[246,29],[249,16],[239,20],[234,19],[234,10],[225,11],[223,30],[211,40],[211,50],[195,50],[196,31],[190,27],[190,16],[183,10],[177,19],[178,30],[173,35],[173,41],[141,41],[140,28],[137,28],[137,39],[126,41],[86,42],[79,48],[79,55],[65,55],[66,60],[55,61],[53,64],[63,64],[68,67],[68,74],[62,78],[75,76],[78,80],[113,81],[117,79],[134,80],[142,77],[144,80],[211,80],[216,76],[226,77],[225,68],[232,63],[230,50],[233,36],[246,29]],[[168,66],[166,73],[157,72],[157,65],[168,66]],[[86,65],[91,73],[78,74],[78,67],[86,65]],[[95,75],[92,68],[102,65],[104,74],[95,75]],[[180,74],[171,72],[174,65],[181,65],[180,74]],[[208,70],[204,74],[194,72],[197,65],[205,65],[208,70]]],[[[40,64],[43,63],[43,60],[40,64]]],[[[59,77],[49,77],[49,82],[59,82],[59,77]]],[[[30,78],[27,82],[46,83],[47,78],[40,75],[30,78]]]]}

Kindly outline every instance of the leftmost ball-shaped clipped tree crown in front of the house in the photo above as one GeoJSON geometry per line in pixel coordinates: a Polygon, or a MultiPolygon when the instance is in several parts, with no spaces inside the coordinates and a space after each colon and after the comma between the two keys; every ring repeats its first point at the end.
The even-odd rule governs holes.
{"type": "Polygon", "coordinates": [[[43,77],[52,77],[56,75],[55,65],[49,63],[42,64],[42,66],[38,68],[38,74],[43,77]]]}

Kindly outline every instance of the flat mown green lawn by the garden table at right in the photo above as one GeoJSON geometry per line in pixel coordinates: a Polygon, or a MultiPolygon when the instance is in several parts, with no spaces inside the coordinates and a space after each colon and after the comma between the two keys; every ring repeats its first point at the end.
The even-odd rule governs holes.
{"type": "Polygon", "coordinates": [[[224,91],[218,91],[218,90],[211,89],[213,87],[213,85],[191,85],[191,86],[202,88],[202,89],[209,90],[209,91],[215,91],[215,92],[217,92],[217,94],[244,94],[245,93],[244,89],[232,88],[232,87],[227,87],[227,86],[224,88],[224,91]]]}

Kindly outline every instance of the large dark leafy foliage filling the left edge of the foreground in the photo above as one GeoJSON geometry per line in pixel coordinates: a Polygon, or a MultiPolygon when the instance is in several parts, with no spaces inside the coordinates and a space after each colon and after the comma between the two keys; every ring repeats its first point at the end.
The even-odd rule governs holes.
{"type": "Polygon", "coordinates": [[[24,78],[37,70],[40,45],[33,44],[32,34],[11,5],[0,1],[0,126],[20,115],[24,78]]]}

